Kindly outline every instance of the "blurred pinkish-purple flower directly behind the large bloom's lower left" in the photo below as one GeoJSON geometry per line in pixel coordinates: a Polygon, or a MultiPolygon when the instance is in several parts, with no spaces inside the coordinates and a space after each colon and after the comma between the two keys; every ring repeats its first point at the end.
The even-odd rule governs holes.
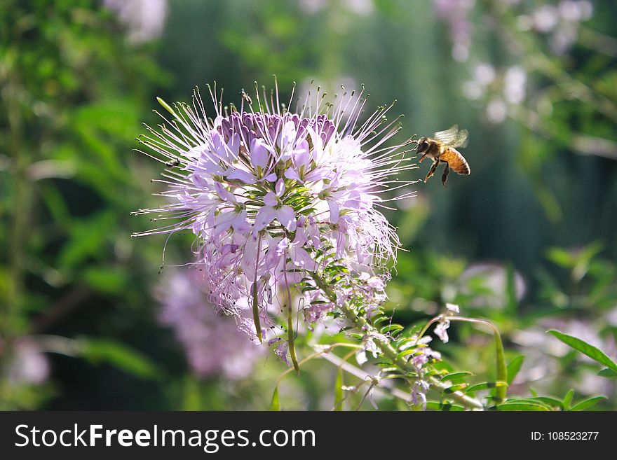
{"type": "Polygon", "coordinates": [[[217,313],[203,291],[201,272],[178,270],[158,286],[158,319],[170,326],[200,377],[237,380],[252,372],[264,348],[243,339],[233,316],[217,313]]]}

